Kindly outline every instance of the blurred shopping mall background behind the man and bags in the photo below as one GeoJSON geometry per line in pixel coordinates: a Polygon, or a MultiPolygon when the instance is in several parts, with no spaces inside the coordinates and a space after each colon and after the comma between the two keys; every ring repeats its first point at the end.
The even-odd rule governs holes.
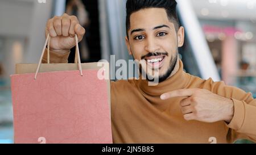
{"type": "MultiPolygon", "coordinates": [[[[124,0],[0,0],[0,143],[13,143],[10,74],[16,63],[37,63],[47,19],[77,15],[86,28],[82,62],[129,60],[124,0]],[[46,2],[46,3],[44,3],[46,2]]],[[[177,0],[185,70],[251,92],[256,98],[256,0],[177,0]]],[[[72,62],[72,52],[69,61],[72,62]]]]}

